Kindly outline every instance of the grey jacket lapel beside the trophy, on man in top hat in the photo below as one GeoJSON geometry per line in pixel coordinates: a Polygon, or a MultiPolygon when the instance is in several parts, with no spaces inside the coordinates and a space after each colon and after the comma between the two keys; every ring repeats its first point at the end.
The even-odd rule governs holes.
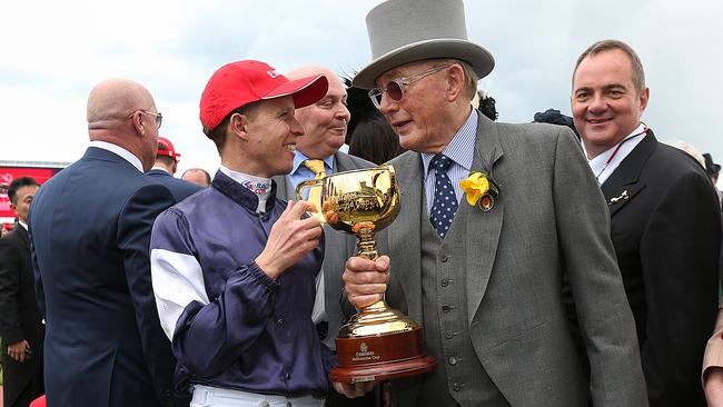
{"type": "Polygon", "coordinates": [[[389,258],[392,259],[393,278],[399,280],[399,286],[407,300],[407,312],[412,319],[422,320],[422,242],[419,221],[422,219],[422,197],[424,190],[424,170],[418,152],[406,152],[395,165],[395,178],[399,186],[399,205],[402,210],[389,226],[389,258]],[[395,242],[395,245],[392,245],[395,242]],[[394,267],[394,265],[398,267],[394,267]]]}

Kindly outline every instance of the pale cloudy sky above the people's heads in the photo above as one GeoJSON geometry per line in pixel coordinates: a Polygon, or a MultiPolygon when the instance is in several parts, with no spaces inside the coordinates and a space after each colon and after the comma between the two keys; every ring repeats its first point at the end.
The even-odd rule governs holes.
{"type": "MultiPolygon", "coordinates": [[[[99,81],[145,85],[180,170],[215,171],[198,101],[224,63],[259,59],[286,71],[307,63],[349,73],[370,60],[366,13],[379,0],[7,2],[0,17],[0,160],[75,161],[88,143],[86,99],[99,81]]],[[[466,0],[469,39],[495,57],[479,88],[499,119],[570,115],[571,75],[592,42],[638,52],[651,88],[643,119],[661,140],[685,140],[723,161],[723,2],[466,0]]]]}

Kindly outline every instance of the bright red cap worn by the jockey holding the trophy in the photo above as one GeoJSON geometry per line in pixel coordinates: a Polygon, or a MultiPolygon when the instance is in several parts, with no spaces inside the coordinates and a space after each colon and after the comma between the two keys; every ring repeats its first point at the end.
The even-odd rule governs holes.
{"type": "Polygon", "coordinates": [[[212,131],[231,111],[248,103],[293,96],[296,108],[316,103],[329,82],[323,75],[288,80],[265,62],[245,60],[219,68],[201,93],[201,125],[212,131]]]}

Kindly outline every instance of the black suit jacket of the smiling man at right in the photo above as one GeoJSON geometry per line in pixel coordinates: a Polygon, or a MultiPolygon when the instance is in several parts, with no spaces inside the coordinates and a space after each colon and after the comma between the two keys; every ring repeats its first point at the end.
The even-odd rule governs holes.
{"type": "Polygon", "coordinates": [[[711,180],[648,130],[602,190],[650,405],[705,406],[700,373],[717,310],[721,250],[711,180]]]}

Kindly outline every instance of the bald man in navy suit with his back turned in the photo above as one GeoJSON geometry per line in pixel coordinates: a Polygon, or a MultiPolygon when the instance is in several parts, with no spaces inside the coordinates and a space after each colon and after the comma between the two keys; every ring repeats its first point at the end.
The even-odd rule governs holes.
{"type": "Polygon", "coordinates": [[[30,209],[51,407],[172,405],[176,363],[148,252],[153,220],[174,197],[143,175],[156,160],[161,118],[136,82],[96,86],[90,147],[40,188],[30,209]]]}

